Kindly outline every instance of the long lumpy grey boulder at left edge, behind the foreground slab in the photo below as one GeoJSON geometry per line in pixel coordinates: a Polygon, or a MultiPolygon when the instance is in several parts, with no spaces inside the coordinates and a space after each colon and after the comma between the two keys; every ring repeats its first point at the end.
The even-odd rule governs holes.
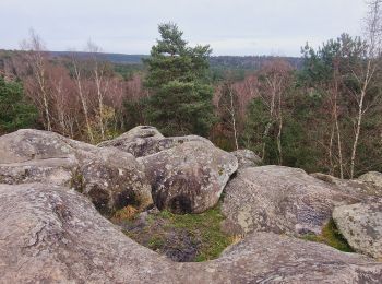
{"type": "Polygon", "coordinates": [[[0,182],[73,187],[110,214],[128,204],[152,204],[142,166],[115,147],[99,149],[53,132],[23,129],[0,137],[0,182]]]}

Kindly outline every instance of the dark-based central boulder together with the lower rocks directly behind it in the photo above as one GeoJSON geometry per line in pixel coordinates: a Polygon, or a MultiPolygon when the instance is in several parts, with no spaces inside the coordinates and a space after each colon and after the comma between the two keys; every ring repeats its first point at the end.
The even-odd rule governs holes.
{"type": "Polygon", "coordinates": [[[196,135],[165,138],[148,126],[100,143],[133,154],[143,164],[155,204],[175,213],[201,213],[214,206],[230,175],[235,155],[196,135]]]}

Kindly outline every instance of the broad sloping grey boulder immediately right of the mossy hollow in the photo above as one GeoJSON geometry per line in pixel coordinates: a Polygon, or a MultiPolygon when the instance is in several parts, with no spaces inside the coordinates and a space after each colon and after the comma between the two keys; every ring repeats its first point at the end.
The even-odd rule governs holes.
{"type": "Polygon", "coordinates": [[[241,169],[225,192],[223,225],[230,234],[320,234],[335,205],[359,202],[302,169],[282,166],[241,169]]]}

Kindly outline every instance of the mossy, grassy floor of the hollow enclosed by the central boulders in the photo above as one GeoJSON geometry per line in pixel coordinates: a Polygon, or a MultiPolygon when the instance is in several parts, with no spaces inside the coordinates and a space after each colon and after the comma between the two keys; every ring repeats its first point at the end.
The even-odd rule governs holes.
{"type": "Polygon", "coordinates": [[[124,234],[175,261],[215,259],[235,240],[220,230],[219,205],[201,214],[178,215],[166,210],[143,214],[124,221],[124,234]]]}

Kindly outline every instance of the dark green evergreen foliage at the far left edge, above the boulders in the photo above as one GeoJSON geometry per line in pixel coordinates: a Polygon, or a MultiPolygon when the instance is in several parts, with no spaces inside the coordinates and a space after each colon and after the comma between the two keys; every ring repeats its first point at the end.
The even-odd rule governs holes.
{"type": "Polygon", "coordinates": [[[0,76],[0,134],[33,127],[37,117],[36,108],[24,96],[22,84],[0,76]]]}

